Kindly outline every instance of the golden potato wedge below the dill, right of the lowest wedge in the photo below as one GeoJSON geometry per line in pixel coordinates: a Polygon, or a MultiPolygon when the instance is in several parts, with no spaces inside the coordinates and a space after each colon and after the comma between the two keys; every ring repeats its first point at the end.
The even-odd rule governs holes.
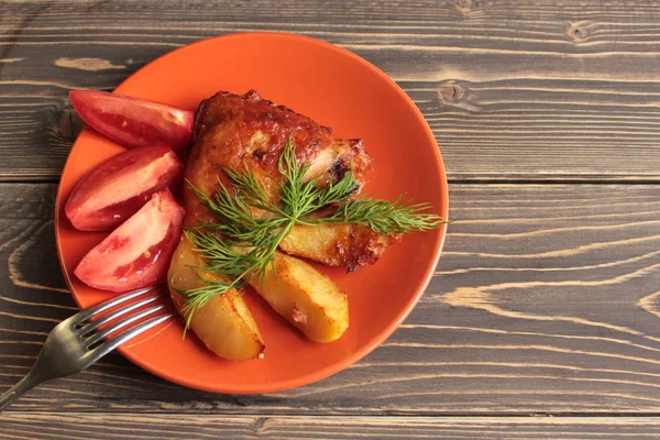
{"type": "Polygon", "coordinates": [[[273,266],[250,284],[312,341],[332,342],[349,327],[346,295],[301,260],[277,252],[273,266]]]}

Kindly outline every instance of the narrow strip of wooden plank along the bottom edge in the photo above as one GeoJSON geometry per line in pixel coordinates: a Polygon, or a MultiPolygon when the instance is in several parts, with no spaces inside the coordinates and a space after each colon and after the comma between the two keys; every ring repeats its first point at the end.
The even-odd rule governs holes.
{"type": "Polygon", "coordinates": [[[282,417],[12,413],[7,439],[657,439],[641,417],[282,417]]]}

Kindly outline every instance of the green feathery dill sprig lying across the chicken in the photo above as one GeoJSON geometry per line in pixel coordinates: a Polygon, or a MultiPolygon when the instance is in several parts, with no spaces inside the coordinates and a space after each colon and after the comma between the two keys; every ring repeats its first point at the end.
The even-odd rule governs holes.
{"type": "Polygon", "coordinates": [[[204,261],[204,267],[195,267],[202,285],[179,292],[186,301],[188,324],[195,310],[216,295],[260,278],[296,224],[355,223],[391,235],[427,231],[446,222],[435,213],[424,212],[429,204],[402,202],[404,195],[394,201],[353,198],[360,184],[352,170],[337,183],[319,185],[319,178],[305,180],[308,169],[308,164],[298,164],[289,138],[278,162],[282,182],[273,180],[279,189],[277,201],[271,200],[266,187],[246,164],[242,170],[224,169],[231,187],[220,183],[212,197],[188,182],[217,219],[185,231],[204,261]],[[329,216],[310,216],[328,206],[333,207],[329,216]],[[216,276],[205,277],[204,273],[216,276]]]}

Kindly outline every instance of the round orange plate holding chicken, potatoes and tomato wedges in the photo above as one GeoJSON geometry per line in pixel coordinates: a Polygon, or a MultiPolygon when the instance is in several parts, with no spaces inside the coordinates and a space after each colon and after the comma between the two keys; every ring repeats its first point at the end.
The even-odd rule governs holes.
{"type": "MultiPolygon", "coordinates": [[[[333,128],[338,138],[361,138],[373,158],[365,194],[393,199],[406,191],[447,218],[448,186],[438,145],[424,117],[384,73],[359,56],[299,35],[233,34],[176,50],[133,74],[118,94],[188,109],[218,90],[262,97],[333,128]]],[[[123,147],[85,129],[59,185],[56,240],[70,290],[82,308],[110,293],[80,283],[73,271],[103,237],[75,230],[64,201],[91,167],[123,147]]],[[[252,292],[246,294],[266,343],[265,359],[234,363],[217,358],[179,322],[131,341],[120,352],[143,369],[178,384],[218,393],[266,393],[327,377],[382,343],[408,316],[426,289],[444,239],[444,228],[404,238],[374,266],[354,274],[320,267],[349,295],[351,322],[337,342],[302,338],[252,292]]]]}

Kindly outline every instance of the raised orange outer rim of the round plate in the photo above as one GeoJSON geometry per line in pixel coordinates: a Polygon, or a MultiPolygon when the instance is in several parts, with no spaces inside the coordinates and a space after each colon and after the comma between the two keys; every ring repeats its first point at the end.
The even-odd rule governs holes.
{"type": "MultiPolygon", "coordinates": [[[[287,32],[233,32],[233,33],[210,36],[207,38],[198,40],[196,42],[183,45],[180,47],[177,47],[173,51],[167,52],[166,54],[158,56],[157,58],[152,59],[151,62],[146,63],[144,66],[140,67],[138,70],[132,73],[129,77],[123,79],[121,81],[121,84],[119,86],[117,86],[112,92],[121,94],[122,87],[134,75],[140,74],[143,69],[147,68],[153,63],[156,63],[163,58],[176,56],[176,54],[178,54],[180,51],[185,51],[185,50],[189,48],[190,46],[202,45],[202,44],[212,44],[212,42],[218,41],[218,40],[237,40],[237,38],[252,38],[252,37],[296,40],[296,41],[305,41],[306,43],[322,46],[324,48],[328,48],[336,53],[339,53],[342,56],[351,57],[353,61],[367,67],[370,70],[372,70],[373,73],[375,73],[376,75],[382,77],[391,86],[393,86],[394,89],[396,90],[396,92],[398,95],[402,95],[405,98],[404,100],[408,105],[409,109],[416,114],[416,117],[418,119],[420,119],[422,121],[422,123],[426,128],[425,136],[428,138],[432,142],[433,145],[436,145],[436,148],[433,148],[433,157],[436,158],[438,169],[440,170],[439,184],[441,186],[440,194],[442,197],[441,205],[438,208],[440,211],[440,216],[444,220],[449,220],[449,184],[448,184],[448,179],[447,179],[447,169],[444,167],[442,155],[440,153],[440,147],[437,143],[436,136],[433,135],[431,128],[428,124],[428,121],[426,120],[426,118],[424,117],[424,114],[421,113],[419,108],[417,108],[415,102],[413,102],[410,97],[405,92],[404,89],[400,88],[400,86],[394,79],[392,79],[387,74],[385,74],[383,70],[381,70],[374,64],[370,63],[369,61],[364,59],[360,55],[354,54],[351,51],[343,48],[341,46],[334,45],[334,44],[326,42],[323,40],[310,37],[307,35],[300,35],[300,34],[294,34],[294,33],[287,33],[287,32]]],[[[86,125],[84,131],[87,131],[87,130],[91,130],[91,129],[86,125]]],[[[76,144],[79,142],[79,138],[80,138],[81,133],[82,132],[80,132],[78,134],[78,136],[76,138],[76,141],[74,142],[74,144],[72,145],[72,147],[69,150],[69,153],[67,155],[67,160],[62,169],[61,176],[63,176],[64,172],[67,169],[67,165],[69,164],[70,157],[72,157],[70,152],[75,148],[76,144]]],[[[62,208],[62,202],[63,202],[62,193],[63,193],[63,187],[62,187],[62,177],[61,177],[61,180],[57,185],[57,195],[55,198],[55,207],[54,207],[54,209],[55,209],[55,216],[54,216],[55,245],[57,249],[57,260],[59,261],[59,266],[62,268],[62,273],[63,273],[63,276],[67,284],[69,294],[76,301],[76,305],[80,308],[81,307],[80,302],[78,301],[78,298],[74,294],[74,289],[72,287],[70,275],[65,267],[64,258],[62,256],[63,255],[62,242],[59,240],[59,228],[58,228],[58,224],[61,221],[59,211],[62,210],[61,208],[62,208]]],[[[237,388],[232,388],[231,386],[215,387],[215,386],[208,386],[206,383],[196,382],[195,380],[190,380],[188,377],[173,375],[167,371],[166,365],[160,365],[160,366],[154,365],[153,363],[150,363],[148,361],[134,355],[130,351],[127,351],[123,346],[119,346],[117,349],[117,351],[119,351],[124,358],[127,358],[129,361],[131,361],[135,365],[140,366],[141,369],[145,370],[146,372],[148,372],[151,374],[154,374],[155,376],[158,376],[161,378],[164,378],[166,381],[169,381],[172,383],[175,383],[175,384],[178,384],[182,386],[186,386],[186,387],[194,388],[194,389],[211,392],[211,393],[240,394],[240,395],[264,394],[264,393],[275,393],[275,392],[280,392],[280,391],[286,391],[286,389],[293,389],[293,388],[312,384],[315,382],[330,377],[330,376],[345,370],[348,366],[359,362],[360,360],[365,358],[367,354],[370,354],[372,351],[374,351],[376,348],[381,346],[383,344],[383,342],[385,342],[400,327],[400,324],[406,320],[406,318],[408,318],[408,316],[410,315],[413,309],[417,306],[421,296],[426,293],[426,290],[431,282],[431,278],[433,277],[435,268],[437,267],[438,262],[440,261],[440,256],[442,254],[442,249],[444,245],[446,238],[447,238],[447,224],[443,224],[440,228],[439,240],[437,242],[437,248],[433,252],[435,256],[433,256],[432,261],[429,262],[429,267],[431,267],[431,268],[427,271],[425,279],[422,280],[422,283],[420,285],[420,288],[418,288],[417,293],[411,297],[411,300],[407,305],[407,307],[405,309],[402,309],[402,312],[399,314],[396,321],[393,324],[384,328],[384,331],[381,331],[378,333],[378,337],[375,338],[375,340],[372,341],[371,343],[365,344],[361,349],[352,351],[349,355],[341,359],[339,362],[329,364],[329,365],[327,365],[322,369],[318,369],[311,373],[308,373],[308,374],[305,374],[301,376],[296,376],[295,378],[280,381],[272,386],[258,386],[258,387],[241,386],[241,387],[237,387],[237,388]]]]}

